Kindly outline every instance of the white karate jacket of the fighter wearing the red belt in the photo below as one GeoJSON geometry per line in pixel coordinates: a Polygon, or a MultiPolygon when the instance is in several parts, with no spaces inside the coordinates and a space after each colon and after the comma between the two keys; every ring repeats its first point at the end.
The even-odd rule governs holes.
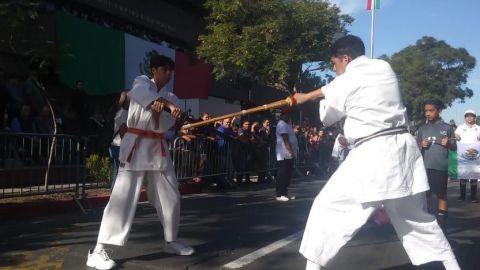
{"type": "MultiPolygon", "coordinates": [[[[128,110],[127,127],[165,133],[175,124],[175,119],[169,113],[162,112],[160,114],[159,127],[155,128],[152,112],[150,111],[151,103],[160,97],[174,102],[172,98],[174,94],[167,92],[165,88],[158,91],[155,83],[147,76],[143,75],[135,78],[128,96],[130,97],[130,107],[128,110]]],[[[123,137],[119,159],[125,165],[121,167],[121,170],[148,171],[172,169],[172,161],[165,139],[141,137],[137,140],[137,138],[138,135],[129,132],[123,137]],[[162,155],[162,144],[163,149],[166,151],[165,156],[162,155]],[[132,158],[127,162],[132,149],[132,158]]]]}

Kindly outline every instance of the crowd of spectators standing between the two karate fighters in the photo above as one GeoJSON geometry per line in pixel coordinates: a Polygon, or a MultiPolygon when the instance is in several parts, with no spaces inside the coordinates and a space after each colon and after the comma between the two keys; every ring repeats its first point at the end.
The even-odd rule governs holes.
{"type": "MultiPolygon", "coordinates": [[[[210,119],[205,112],[202,120],[210,119]]],[[[253,117],[252,117],[253,118],[253,117]]],[[[211,125],[195,130],[184,131],[183,139],[190,143],[215,142],[218,155],[224,160],[231,160],[234,183],[224,178],[203,179],[207,184],[215,182],[220,186],[245,185],[273,180],[275,175],[275,126],[274,115],[261,121],[249,119],[227,118],[211,125]],[[229,147],[230,156],[225,156],[225,148],[229,147]],[[251,177],[256,175],[256,181],[251,177]]],[[[338,166],[338,160],[332,157],[332,149],[340,129],[336,127],[318,128],[307,125],[296,125],[295,135],[299,142],[298,172],[305,175],[316,175],[327,178],[338,166]]],[[[200,147],[205,149],[207,147],[200,147]]],[[[199,157],[200,155],[196,155],[199,157]]],[[[202,160],[198,175],[208,175],[208,163],[202,160]]],[[[212,161],[213,162],[213,161],[212,161]]],[[[226,164],[216,164],[216,168],[226,164]]],[[[195,178],[196,181],[202,179],[195,178]]]]}

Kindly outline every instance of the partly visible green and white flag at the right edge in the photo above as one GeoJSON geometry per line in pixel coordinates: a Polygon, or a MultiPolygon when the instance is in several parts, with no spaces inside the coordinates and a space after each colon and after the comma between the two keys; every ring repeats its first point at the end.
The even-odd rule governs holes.
{"type": "Polygon", "coordinates": [[[448,176],[453,179],[480,178],[480,142],[457,142],[457,151],[449,151],[448,176]]]}

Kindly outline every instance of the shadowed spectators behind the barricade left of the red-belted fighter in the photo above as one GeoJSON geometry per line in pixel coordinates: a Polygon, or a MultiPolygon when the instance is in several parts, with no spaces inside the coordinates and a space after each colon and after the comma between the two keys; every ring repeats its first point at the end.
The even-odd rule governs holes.
{"type": "Polygon", "coordinates": [[[74,89],[62,90],[58,95],[45,87],[38,69],[30,69],[25,78],[6,74],[0,68],[0,132],[51,135],[56,129],[56,134],[72,135],[83,142],[96,137],[89,149],[107,153],[113,133],[114,100],[103,108],[89,105],[95,98],[87,96],[82,80],[74,89]]]}

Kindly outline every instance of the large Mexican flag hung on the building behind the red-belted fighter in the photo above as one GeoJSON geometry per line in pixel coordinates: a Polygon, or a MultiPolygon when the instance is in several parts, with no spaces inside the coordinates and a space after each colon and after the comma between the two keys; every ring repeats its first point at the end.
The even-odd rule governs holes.
{"type": "Polygon", "coordinates": [[[208,98],[207,65],[201,61],[192,63],[166,42],[150,42],[64,12],[56,14],[56,39],[60,81],[73,88],[77,80],[83,80],[89,95],[130,89],[135,77],[150,75],[149,58],[157,53],[175,61],[168,91],[184,99],[208,98]]]}

